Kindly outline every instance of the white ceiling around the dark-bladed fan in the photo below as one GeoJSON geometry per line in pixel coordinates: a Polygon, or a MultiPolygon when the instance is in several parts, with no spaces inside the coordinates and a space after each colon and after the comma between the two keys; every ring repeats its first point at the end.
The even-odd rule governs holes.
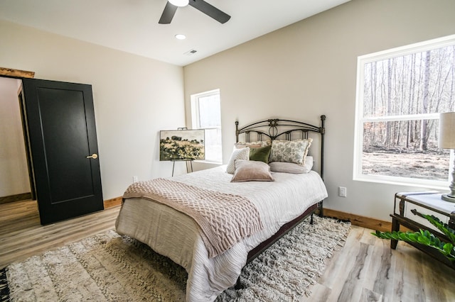
{"type": "Polygon", "coordinates": [[[347,1],[207,0],[230,20],[185,6],[163,25],[166,0],[1,0],[0,19],[184,66],[347,1]]]}

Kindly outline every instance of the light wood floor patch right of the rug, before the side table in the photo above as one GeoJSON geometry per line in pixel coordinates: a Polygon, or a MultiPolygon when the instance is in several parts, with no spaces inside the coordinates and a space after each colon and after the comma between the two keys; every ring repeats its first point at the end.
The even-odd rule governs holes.
{"type": "Polygon", "coordinates": [[[343,249],[306,301],[455,301],[455,270],[405,242],[397,250],[372,230],[351,226],[343,249]]]}

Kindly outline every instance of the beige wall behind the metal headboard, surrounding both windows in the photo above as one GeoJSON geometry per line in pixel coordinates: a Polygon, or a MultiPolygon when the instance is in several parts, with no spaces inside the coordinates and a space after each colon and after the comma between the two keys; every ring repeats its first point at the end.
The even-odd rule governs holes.
{"type": "Polygon", "coordinates": [[[353,0],[188,65],[187,123],[189,96],[219,88],[227,162],[237,118],[317,124],[326,114],[326,207],[389,220],[395,192],[422,188],[353,181],[357,57],[453,34],[454,12],[453,0],[353,0]]]}

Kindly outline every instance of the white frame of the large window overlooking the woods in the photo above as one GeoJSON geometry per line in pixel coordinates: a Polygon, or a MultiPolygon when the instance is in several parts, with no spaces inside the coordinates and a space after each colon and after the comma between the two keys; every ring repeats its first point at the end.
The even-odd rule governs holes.
{"type": "Polygon", "coordinates": [[[365,82],[365,65],[371,62],[387,60],[392,57],[400,57],[411,55],[414,52],[424,52],[441,47],[446,47],[455,44],[455,35],[448,35],[446,37],[436,38],[432,40],[405,45],[402,47],[395,47],[390,50],[382,50],[380,52],[373,52],[368,55],[361,55],[357,58],[357,81],[356,81],[356,94],[355,94],[355,129],[354,129],[354,155],[353,155],[353,180],[355,181],[369,181],[382,184],[395,184],[403,186],[424,186],[432,189],[446,190],[451,181],[451,171],[454,167],[454,150],[450,152],[449,159],[449,175],[447,181],[437,181],[429,179],[415,179],[410,177],[391,177],[385,175],[362,174],[362,159],[363,159],[363,124],[365,122],[378,122],[378,121],[414,121],[437,119],[439,120],[439,113],[424,113],[417,115],[406,116],[381,116],[381,117],[364,117],[363,116],[363,95],[364,95],[364,82],[365,82]]]}

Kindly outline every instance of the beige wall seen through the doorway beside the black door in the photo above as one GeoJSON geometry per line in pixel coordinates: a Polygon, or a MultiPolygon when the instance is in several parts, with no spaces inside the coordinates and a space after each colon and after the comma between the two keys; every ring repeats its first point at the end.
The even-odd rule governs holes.
{"type": "Polygon", "coordinates": [[[0,197],[30,192],[18,79],[0,77],[0,197]]]}

